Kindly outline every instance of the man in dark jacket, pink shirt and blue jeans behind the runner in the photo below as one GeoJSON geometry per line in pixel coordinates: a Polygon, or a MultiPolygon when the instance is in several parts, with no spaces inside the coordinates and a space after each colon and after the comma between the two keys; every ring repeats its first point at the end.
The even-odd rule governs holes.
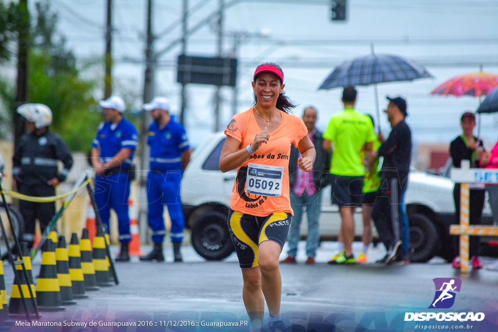
{"type": "Polygon", "coordinates": [[[299,226],[303,209],[308,216],[308,238],[306,241],[306,264],[315,263],[316,248],[320,240],[318,219],[320,217],[321,189],[329,183],[330,153],[322,148],[322,133],[315,127],[318,112],[314,107],[308,107],[303,112],[303,121],[308,128],[308,135],[316,150],[316,158],[311,172],[303,172],[297,167],[299,150],[292,146],[289,157],[289,186],[290,204],[294,210],[294,217],[290,224],[287,243],[289,251],[283,263],[297,263],[297,242],[300,239],[299,226]]]}

